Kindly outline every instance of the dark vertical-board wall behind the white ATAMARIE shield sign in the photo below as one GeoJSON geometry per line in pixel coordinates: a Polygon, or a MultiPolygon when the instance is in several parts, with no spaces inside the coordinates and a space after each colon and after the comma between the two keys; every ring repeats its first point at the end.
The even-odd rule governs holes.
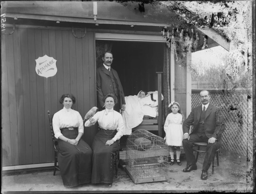
{"type": "MultiPolygon", "coordinates": [[[[53,162],[47,111],[63,108],[64,93],[76,97],[72,108],[82,117],[96,105],[94,32],[79,39],[71,30],[16,27],[1,41],[2,164],[53,162]],[[44,55],[57,60],[53,77],[35,71],[35,59],[44,55]]],[[[95,133],[95,127],[86,128],[83,139],[91,145],[95,133]]]]}

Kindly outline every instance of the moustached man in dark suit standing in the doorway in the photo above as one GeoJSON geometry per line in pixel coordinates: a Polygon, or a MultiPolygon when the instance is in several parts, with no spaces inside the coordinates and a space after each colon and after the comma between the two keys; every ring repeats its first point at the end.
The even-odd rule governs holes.
{"type": "Polygon", "coordinates": [[[117,103],[114,110],[120,112],[125,110],[124,91],[117,72],[111,68],[113,55],[105,52],[102,57],[103,64],[97,68],[97,100],[99,111],[104,109],[103,96],[112,93],[116,95],[117,103]]]}

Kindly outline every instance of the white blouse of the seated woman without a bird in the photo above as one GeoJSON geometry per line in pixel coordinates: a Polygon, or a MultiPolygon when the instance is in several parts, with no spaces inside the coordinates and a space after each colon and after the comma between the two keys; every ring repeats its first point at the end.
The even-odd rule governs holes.
{"type": "Polygon", "coordinates": [[[54,114],[53,131],[57,139],[62,135],[60,129],[65,127],[78,127],[78,133],[83,133],[83,119],[78,111],[63,107],[62,110],[54,114]]]}

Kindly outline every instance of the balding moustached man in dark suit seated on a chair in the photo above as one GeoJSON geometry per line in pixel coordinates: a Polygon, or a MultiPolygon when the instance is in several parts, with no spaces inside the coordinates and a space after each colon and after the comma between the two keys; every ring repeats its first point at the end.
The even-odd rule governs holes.
{"type": "Polygon", "coordinates": [[[187,167],[184,172],[196,170],[195,156],[193,155],[194,142],[206,142],[205,158],[203,162],[201,179],[207,179],[211,162],[214,160],[216,150],[220,148],[221,133],[225,129],[225,123],[220,114],[220,109],[210,102],[211,96],[207,90],[200,92],[202,104],[195,107],[186,121],[183,123],[183,148],[186,154],[187,167]],[[190,125],[193,124],[193,131],[189,134],[190,125]]]}

